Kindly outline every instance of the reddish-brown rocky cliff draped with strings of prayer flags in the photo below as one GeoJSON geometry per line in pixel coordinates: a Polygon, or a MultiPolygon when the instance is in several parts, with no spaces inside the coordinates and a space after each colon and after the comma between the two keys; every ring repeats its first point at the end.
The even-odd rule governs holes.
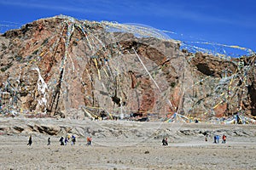
{"type": "Polygon", "coordinates": [[[189,54],[149,28],[67,16],[0,37],[2,111],[46,116],[256,115],[255,55],[189,54]]]}

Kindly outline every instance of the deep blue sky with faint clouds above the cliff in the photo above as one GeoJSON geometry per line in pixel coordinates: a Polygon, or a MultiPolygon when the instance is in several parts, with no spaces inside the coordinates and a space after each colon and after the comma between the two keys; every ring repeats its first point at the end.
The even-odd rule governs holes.
{"type": "Polygon", "coordinates": [[[254,0],[0,0],[0,31],[58,14],[79,20],[139,23],[173,38],[238,45],[256,51],[254,0]],[[145,3],[147,2],[147,3],[145,3]]]}

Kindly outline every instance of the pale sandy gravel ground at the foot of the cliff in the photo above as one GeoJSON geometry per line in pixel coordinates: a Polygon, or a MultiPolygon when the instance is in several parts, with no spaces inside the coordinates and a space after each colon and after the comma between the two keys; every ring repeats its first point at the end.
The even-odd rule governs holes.
{"type": "MultiPolygon", "coordinates": [[[[2,118],[0,120],[0,130],[3,127],[17,126],[20,122],[2,118]]],[[[45,120],[41,123],[47,122],[58,125],[66,121],[45,120]]],[[[108,132],[111,133],[94,133],[90,146],[86,145],[86,135],[76,134],[75,145],[69,142],[66,146],[61,146],[58,142],[61,134],[49,136],[31,132],[33,144],[28,146],[26,143],[29,132],[0,131],[0,169],[256,169],[255,125],[121,121],[68,121],[66,124],[75,124],[74,127],[90,126],[96,130],[97,127],[108,127],[108,132]],[[112,135],[113,129],[117,127],[123,129],[121,134],[112,135]],[[128,128],[148,135],[129,133],[129,136],[125,136],[124,129],[128,128]],[[172,133],[163,131],[166,129],[172,129],[172,133]],[[181,133],[184,131],[189,133],[181,133]],[[225,132],[228,134],[227,143],[213,144],[211,135],[206,142],[204,135],[195,133],[197,131],[225,132]],[[168,134],[168,146],[161,145],[158,132],[168,134]],[[49,137],[51,144],[47,145],[49,137]]]]}

